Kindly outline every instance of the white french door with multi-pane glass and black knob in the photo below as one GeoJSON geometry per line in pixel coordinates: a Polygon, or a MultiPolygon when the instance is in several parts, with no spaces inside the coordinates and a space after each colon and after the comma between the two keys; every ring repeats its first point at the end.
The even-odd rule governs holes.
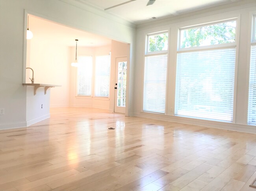
{"type": "Polygon", "coordinates": [[[127,57],[116,58],[115,64],[115,113],[125,113],[127,57]]]}

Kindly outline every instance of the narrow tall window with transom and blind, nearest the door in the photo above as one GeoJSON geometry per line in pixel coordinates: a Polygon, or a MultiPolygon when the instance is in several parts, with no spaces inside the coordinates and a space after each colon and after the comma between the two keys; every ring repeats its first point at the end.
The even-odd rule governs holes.
{"type": "Polygon", "coordinates": [[[147,35],[143,111],[165,113],[168,33],[147,35]]]}

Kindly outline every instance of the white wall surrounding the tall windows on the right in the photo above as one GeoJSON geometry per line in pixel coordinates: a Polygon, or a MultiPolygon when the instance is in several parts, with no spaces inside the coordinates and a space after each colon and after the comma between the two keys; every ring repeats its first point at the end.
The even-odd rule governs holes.
{"type": "Polygon", "coordinates": [[[236,131],[245,131],[256,133],[256,128],[247,125],[247,100],[248,100],[248,80],[249,80],[249,54],[250,54],[250,25],[252,21],[252,12],[256,13],[256,2],[248,1],[249,4],[238,2],[234,5],[223,5],[204,11],[189,13],[187,15],[176,16],[169,19],[163,19],[150,24],[141,24],[137,26],[136,38],[136,58],[135,58],[135,84],[134,84],[134,115],[147,118],[156,118],[187,124],[195,124],[223,129],[232,129],[236,131]],[[191,25],[204,24],[230,18],[238,18],[238,40],[237,40],[237,62],[236,62],[236,93],[234,95],[234,122],[216,122],[186,117],[174,116],[175,102],[175,79],[176,79],[176,55],[178,29],[191,25]],[[167,111],[165,115],[143,112],[143,73],[144,73],[144,54],[145,38],[147,34],[169,31],[169,63],[168,63],[168,82],[167,82],[167,111]],[[136,91],[135,91],[136,90],[136,91]]]}

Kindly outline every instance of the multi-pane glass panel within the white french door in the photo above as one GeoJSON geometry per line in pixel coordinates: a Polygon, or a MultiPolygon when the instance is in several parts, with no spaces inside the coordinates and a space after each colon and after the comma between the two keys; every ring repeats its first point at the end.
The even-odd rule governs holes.
{"type": "Polygon", "coordinates": [[[127,62],[118,62],[117,106],[125,107],[127,62]]]}

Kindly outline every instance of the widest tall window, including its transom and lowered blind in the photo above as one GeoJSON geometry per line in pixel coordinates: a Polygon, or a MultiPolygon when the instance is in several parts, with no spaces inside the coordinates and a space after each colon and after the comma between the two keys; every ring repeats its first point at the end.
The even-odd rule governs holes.
{"type": "Polygon", "coordinates": [[[231,122],[236,20],[179,32],[175,115],[231,122]]]}

